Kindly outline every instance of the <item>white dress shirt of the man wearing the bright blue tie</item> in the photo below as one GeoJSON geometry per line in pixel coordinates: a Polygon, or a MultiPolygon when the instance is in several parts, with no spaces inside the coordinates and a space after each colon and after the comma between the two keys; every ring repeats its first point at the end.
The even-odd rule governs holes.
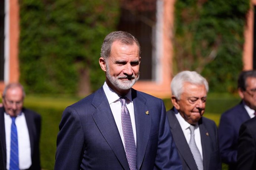
{"type": "MultiPolygon", "coordinates": [[[[19,169],[29,169],[32,165],[31,148],[29,140],[29,130],[24,113],[18,115],[15,119],[19,145],[19,169]]],[[[6,169],[10,167],[10,150],[11,150],[11,126],[12,118],[4,113],[4,127],[6,136],[6,169]]]]}

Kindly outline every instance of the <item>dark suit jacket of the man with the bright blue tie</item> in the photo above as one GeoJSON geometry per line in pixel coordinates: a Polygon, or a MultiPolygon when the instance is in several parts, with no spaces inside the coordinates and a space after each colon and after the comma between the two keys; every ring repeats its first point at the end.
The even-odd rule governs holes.
{"type": "MultiPolygon", "coordinates": [[[[23,108],[22,112],[25,115],[27,128],[29,130],[29,139],[31,147],[31,159],[32,165],[30,170],[40,170],[40,155],[39,155],[39,139],[41,133],[41,116],[32,110],[23,108]]],[[[3,146],[3,159],[4,169],[6,169],[6,138],[5,138],[5,127],[4,127],[4,108],[0,108],[0,136],[3,146]]]]}

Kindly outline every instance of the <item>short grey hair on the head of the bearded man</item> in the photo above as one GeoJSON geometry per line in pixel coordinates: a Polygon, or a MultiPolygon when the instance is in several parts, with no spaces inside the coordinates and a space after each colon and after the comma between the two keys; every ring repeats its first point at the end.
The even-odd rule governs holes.
{"type": "Polygon", "coordinates": [[[105,37],[103,44],[101,45],[101,57],[104,59],[109,57],[114,41],[119,41],[125,45],[133,45],[133,43],[136,43],[139,48],[139,55],[141,54],[141,46],[137,38],[125,31],[114,31],[105,37]]]}

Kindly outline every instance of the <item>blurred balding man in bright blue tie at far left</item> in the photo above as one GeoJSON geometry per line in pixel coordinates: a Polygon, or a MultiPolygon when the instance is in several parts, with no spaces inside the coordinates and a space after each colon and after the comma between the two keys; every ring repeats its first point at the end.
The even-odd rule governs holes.
{"type": "Polygon", "coordinates": [[[41,116],[23,107],[25,92],[19,83],[7,85],[0,108],[0,136],[4,169],[40,170],[41,116]]]}

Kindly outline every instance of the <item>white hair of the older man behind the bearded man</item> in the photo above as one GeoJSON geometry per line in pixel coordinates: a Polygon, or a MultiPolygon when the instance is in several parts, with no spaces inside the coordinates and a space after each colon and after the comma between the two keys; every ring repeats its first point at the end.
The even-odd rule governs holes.
{"type": "Polygon", "coordinates": [[[206,91],[208,92],[209,90],[208,82],[206,79],[196,71],[181,71],[175,75],[171,81],[171,92],[178,100],[180,100],[180,96],[183,93],[184,82],[196,85],[204,85],[206,91]]]}

